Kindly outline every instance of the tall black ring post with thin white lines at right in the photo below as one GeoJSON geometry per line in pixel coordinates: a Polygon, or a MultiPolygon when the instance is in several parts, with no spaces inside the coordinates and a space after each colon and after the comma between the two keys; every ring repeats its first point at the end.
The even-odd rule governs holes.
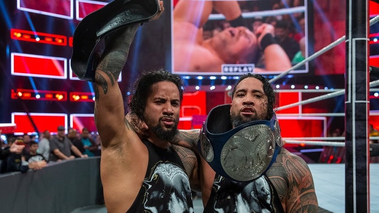
{"type": "Polygon", "coordinates": [[[346,2],[345,212],[370,212],[368,0],[346,2]]]}

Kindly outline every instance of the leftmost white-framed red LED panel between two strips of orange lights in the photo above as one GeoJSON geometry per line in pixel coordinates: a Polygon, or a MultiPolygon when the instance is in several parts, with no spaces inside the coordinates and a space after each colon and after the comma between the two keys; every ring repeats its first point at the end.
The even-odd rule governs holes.
{"type": "Polygon", "coordinates": [[[11,53],[12,75],[67,78],[67,59],[46,55],[11,53]]]}

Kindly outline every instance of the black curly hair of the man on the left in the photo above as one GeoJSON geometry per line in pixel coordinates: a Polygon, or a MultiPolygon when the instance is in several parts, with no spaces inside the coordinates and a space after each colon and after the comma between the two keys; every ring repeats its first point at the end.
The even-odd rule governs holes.
{"type": "Polygon", "coordinates": [[[179,89],[180,104],[182,104],[184,83],[179,75],[172,74],[163,69],[145,71],[138,77],[133,85],[133,92],[128,103],[129,112],[132,115],[137,115],[139,120],[145,122],[143,113],[145,111],[147,97],[151,93],[151,87],[153,84],[162,81],[170,81],[176,85],[176,87],[179,89]]]}

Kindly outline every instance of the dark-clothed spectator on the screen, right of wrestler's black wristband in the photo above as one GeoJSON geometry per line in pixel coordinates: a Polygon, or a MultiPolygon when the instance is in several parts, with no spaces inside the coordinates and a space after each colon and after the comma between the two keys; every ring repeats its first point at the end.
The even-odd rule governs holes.
{"type": "Polygon", "coordinates": [[[299,44],[289,35],[290,35],[289,23],[284,20],[277,21],[276,26],[275,26],[276,41],[287,53],[290,60],[292,60],[295,54],[300,51],[300,47],[299,47],[299,44]]]}

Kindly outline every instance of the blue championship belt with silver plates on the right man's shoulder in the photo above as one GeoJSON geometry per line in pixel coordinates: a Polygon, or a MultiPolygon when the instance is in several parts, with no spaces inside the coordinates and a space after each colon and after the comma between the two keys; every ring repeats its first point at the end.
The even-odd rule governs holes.
{"type": "Polygon", "coordinates": [[[233,128],[229,104],[209,112],[199,140],[199,152],[212,169],[234,181],[250,181],[263,175],[283,146],[275,114],[270,121],[253,121],[233,128]]]}

